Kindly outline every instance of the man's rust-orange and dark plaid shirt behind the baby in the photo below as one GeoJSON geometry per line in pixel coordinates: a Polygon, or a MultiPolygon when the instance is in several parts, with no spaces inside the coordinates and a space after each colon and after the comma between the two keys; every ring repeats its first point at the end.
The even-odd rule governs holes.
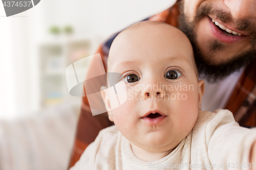
{"type": "MultiPolygon", "coordinates": [[[[162,21],[174,27],[178,26],[179,9],[178,4],[168,8],[167,10],[146,18],[148,21],[162,21]]],[[[110,46],[119,34],[116,33],[108,40],[103,42],[97,52],[100,53],[106,70],[106,60],[108,59],[110,46]]],[[[236,87],[234,88],[225,109],[230,110],[236,121],[241,126],[256,126],[256,60],[249,64],[241,75],[236,87]]],[[[106,114],[92,116],[87,96],[82,99],[81,113],[77,126],[75,144],[70,161],[72,167],[79,160],[83,151],[94,141],[98,132],[106,127],[113,125],[106,114]]]]}

